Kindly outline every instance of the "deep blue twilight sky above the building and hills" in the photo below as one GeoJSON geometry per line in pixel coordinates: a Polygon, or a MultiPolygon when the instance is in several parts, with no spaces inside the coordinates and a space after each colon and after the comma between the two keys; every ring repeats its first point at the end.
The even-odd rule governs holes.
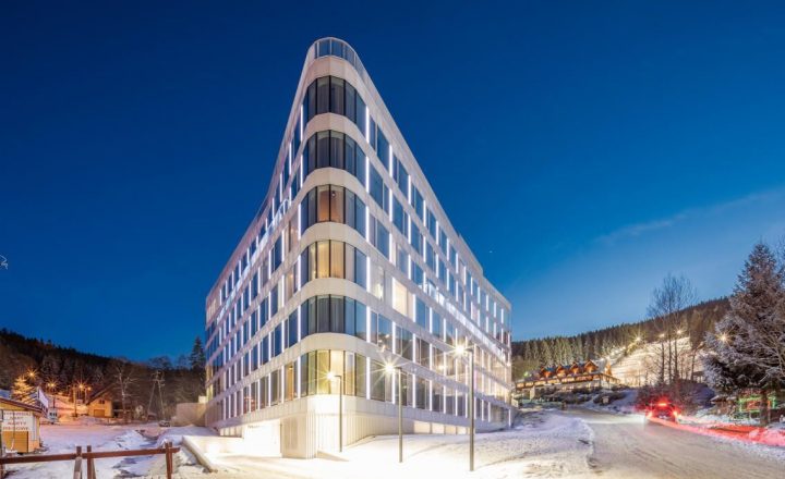
{"type": "Polygon", "coordinates": [[[515,339],[640,319],[668,272],[725,295],[785,233],[782,4],[270,3],[2,2],[0,327],[186,352],[329,35],[515,339]]]}

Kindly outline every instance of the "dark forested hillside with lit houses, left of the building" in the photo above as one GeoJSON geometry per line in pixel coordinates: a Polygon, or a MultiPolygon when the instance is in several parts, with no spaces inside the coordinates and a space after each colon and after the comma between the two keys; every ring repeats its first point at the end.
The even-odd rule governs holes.
{"type": "Polygon", "coordinates": [[[0,389],[12,389],[14,380],[23,374],[28,382],[41,385],[47,392],[65,394],[74,385],[83,384],[93,392],[109,388],[117,397],[122,384],[129,408],[146,407],[153,389],[153,374],[161,371],[167,416],[172,414],[177,403],[195,402],[200,394],[204,394],[204,361],[198,337],[190,355],[173,361],[165,356],[132,361],[83,353],[58,346],[51,341],[0,330],[0,389]]]}

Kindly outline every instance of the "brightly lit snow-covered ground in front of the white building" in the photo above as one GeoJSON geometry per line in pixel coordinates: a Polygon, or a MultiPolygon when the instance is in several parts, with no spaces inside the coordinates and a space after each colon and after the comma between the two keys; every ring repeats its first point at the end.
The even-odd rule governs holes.
{"type": "Polygon", "coordinates": [[[212,455],[210,459],[229,477],[570,478],[590,472],[591,442],[592,432],[582,420],[532,412],[514,429],[476,435],[475,472],[471,475],[467,435],[406,435],[403,464],[398,463],[397,435],[377,437],[345,449],[338,460],[239,455],[212,455]]]}

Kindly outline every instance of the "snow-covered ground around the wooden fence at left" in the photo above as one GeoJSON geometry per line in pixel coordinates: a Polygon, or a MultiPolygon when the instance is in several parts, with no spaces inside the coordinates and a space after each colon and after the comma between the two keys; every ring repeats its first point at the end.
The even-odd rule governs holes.
{"type": "MultiPolygon", "coordinates": [[[[77,445],[92,445],[93,451],[118,451],[156,447],[165,440],[176,445],[183,434],[210,434],[206,428],[183,427],[161,430],[157,425],[106,425],[94,418],[80,418],[70,423],[41,426],[41,441],[47,449],[44,454],[72,453],[77,445]]],[[[183,451],[176,455],[176,464],[184,471],[201,472],[194,460],[183,451]]],[[[99,478],[136,477],[155,474],[164,464],[164,456],[141,456],[126,458],[97,459],[96,474],[99,478]]],[[[74,463],[33,463],[10,466],[11,479],[60,479],[73,474],[74,463]]]]}

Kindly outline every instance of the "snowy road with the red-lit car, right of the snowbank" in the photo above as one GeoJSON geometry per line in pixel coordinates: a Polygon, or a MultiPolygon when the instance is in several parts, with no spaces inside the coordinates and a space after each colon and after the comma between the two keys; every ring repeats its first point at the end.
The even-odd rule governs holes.
{"type": "Polygon", "coordinates": [[[785,478],[785,451],[644,425],[640,416],[573,409],[594,431],[589,458],[602,478],[785,478]]]}

